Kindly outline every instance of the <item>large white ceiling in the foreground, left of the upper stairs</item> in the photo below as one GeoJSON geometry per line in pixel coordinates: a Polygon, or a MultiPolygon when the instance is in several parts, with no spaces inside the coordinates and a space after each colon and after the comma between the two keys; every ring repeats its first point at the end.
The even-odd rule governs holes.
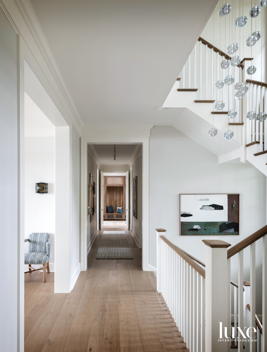
{"type": "Polygon", "coordinates": [[[172,125],[157,111],[214,0],[31,0],[84,124],[172,125]]]}

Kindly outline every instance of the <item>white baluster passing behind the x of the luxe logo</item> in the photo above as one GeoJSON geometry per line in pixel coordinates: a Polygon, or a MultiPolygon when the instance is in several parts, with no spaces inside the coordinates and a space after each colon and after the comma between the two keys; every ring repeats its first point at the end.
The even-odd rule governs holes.
{"type": "MultiPolygon", "coordinates": [[[[242,329],[242,331],[244,328],[243,281],[244,281],[244,278],[243,278],[243,251],[240,251],[238,253],[238,326],[242,329]]],[[[235,332],[236,332],[236,326],[235,326],[235,332]]],[[[243,342],[242,341],[238,343],[238,352],[241,352],[241,351],[243,351],[243,342]]]]}

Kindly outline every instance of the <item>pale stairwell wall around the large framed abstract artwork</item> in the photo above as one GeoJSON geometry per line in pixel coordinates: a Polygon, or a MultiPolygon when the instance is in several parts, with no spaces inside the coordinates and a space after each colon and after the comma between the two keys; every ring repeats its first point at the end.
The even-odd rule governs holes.
{"type": "MultiPolygon", "coordinates": [[[[166,237],[205,263],[204,236],[179,236],[180,193],[240,193],[240,235],[222,239],[234,245],[266,224],[266,177],[251,164],[218,164],[218,158],[173,127],[157,126],[150,137],[150,264],[156,267],[155,228],[165,228],[166,237]]],[[[257,275],[260,270],[257,244],[257,275]]],[[[244,251],[249,263],[249,249],[244,251]]],[[[231,277],[237,282],[237,258],[231,260],[231,277]]],[[[249,281],[249,264],[244,280],[249,281]]],[[[258,281],[259,282],[259,281],[258,281]]],[[[259,290],[260,294],[260,282],[259,290]]]]}

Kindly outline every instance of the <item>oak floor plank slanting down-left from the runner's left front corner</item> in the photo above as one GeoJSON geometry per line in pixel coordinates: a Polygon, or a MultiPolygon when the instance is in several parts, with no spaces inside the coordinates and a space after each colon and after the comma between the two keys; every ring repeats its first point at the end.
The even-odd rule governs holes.
{"type": "Polygon", "coordinates": [[[87,351],[102,263],[95,259],[91,265],[64,352],[87,351]]]}

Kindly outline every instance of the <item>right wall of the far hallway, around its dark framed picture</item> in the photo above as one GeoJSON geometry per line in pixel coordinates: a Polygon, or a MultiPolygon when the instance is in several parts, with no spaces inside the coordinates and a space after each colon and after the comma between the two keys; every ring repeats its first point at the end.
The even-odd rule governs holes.
{"type": "MultiPolygon", "coordinates": [[[[133,237],[142,248],[142,156],[133,163],[133,179],[137,176],[137,219],[133,216],[133,237]]],[[[133,201],[133,198],[132,198],[133,201]]],[[[133,211],[133,205],[131,206],[133,211]]]]}

